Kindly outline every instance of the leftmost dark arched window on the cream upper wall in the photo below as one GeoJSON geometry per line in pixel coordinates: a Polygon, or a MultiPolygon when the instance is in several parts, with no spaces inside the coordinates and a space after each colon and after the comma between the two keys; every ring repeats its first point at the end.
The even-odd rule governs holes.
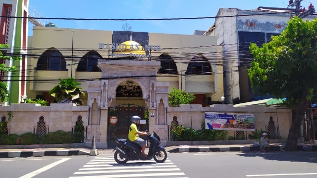
{"type": "Polygon", "coordinates": [[[46,50],[39,58],[37,70],[67,71],[64,56],[54,47],[46,50]]]}

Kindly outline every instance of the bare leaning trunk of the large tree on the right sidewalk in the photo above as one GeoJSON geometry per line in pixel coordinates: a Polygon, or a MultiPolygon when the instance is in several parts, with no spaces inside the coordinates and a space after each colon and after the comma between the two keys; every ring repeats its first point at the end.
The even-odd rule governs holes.
{"type": "Polygon", "coordinates": [[[287,142],[284,147],[285,151],[297,151],[298,150],[298,136],[301,131],[302,120],[305,115],[305,109],[308,106],[308,101],[306,99],[306,94],[303,93],[301,100],[298,103],[298,107],[295,110],[295,116],[292,117],[292,125],[289,129],[289,134],[287,137],[287,142]]]}

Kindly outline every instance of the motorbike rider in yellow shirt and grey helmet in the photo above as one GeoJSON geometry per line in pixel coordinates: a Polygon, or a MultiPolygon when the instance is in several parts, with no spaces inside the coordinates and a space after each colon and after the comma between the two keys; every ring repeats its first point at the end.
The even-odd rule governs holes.
{"type": "Polygon", "coordinates": [[[131,125],[130,125],[130,128],[129,128],[129,135],[128,135],[128,138],[130,141],[133,141],[135,143],[138,143],[141,147],[142,147],[142,156],[147,156],[145,154],[145,146],[146,146],[146,141],[142,138],[139,137],[139,135],[145,135],[145,134],[148,134],[147,132],[140,132],[138,131],[138,128],[137,128],[137,123],[138,121],[140,121],[140,117],[139,116],[132,116],[131,117],[131,125]]]}

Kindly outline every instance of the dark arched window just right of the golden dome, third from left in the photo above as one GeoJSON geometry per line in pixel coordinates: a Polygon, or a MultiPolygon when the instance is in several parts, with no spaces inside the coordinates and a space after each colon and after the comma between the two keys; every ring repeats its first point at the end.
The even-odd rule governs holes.
{"type": "Polygon", "coordinates": [[[158,74],[177,74],[176,64],[170,55],[163,53],[156,61],[160,61],[161,67],[158,74]]]}

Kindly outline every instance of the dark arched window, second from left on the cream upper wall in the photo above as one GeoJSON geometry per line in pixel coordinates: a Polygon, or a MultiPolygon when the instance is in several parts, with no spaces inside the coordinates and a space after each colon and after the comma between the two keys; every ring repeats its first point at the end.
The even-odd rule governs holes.
{"type": "Polygon", "coordinates": [[[103,58],[95,50],[89,51],[79,61],[77,66],[78,72],[101,72],[98,68],[98,59],[103,58]]]}

